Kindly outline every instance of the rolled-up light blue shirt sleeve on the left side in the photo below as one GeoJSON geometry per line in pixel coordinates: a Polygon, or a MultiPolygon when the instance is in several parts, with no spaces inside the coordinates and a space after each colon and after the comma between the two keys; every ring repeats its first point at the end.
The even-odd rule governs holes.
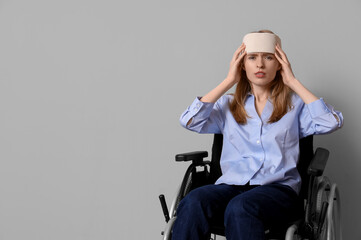
{"type": "Polygon", "coordinates": [[[206,103],[197,97],[182,113],[179,119],[181,125],[198,133],[221,133],[223,117],[219,101],[206,103]]]}

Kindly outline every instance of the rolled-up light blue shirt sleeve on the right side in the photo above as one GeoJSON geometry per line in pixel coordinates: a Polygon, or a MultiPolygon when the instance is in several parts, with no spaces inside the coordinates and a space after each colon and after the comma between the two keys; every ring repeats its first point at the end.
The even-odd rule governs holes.
{"type": "Polygon", "coordinates": [[[322,98],[304,104],[300,113],[300,138],[331,133],[343,126],[342,113],[326,104],[322,98]]]}

